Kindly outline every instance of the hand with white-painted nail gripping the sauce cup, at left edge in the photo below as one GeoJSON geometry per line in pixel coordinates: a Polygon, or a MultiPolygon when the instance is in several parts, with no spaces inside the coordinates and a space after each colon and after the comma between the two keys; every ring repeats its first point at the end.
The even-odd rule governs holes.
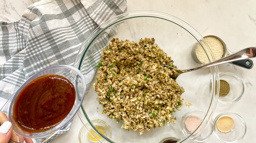
{"type": "Polygon", "coordinates": [[[12,125],[3,112],[0,112],[0,123],[0,143],[8,143],[12,135],[12,125]]]}

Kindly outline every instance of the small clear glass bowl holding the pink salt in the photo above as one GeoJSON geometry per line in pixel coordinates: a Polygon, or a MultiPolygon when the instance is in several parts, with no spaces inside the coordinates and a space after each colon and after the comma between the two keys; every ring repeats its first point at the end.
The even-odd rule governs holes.
{"type": "MultiPolygon", "coordinates": [[[[189,136],[191,134],[190,131],[187,130],[186,125],[185,125],[185,120],[189,116],[196,116],[199,119],[203,119],[205,116],[205,113],[199,110],[192,110],[187,112],[184,116],[183,119],[181,120],[181,127],[182,127],[182,132],[184,135],[189,136]]],[[[203,142],[207,140],[213,133],[213,121],[212,119],[209,121],[209,123],[206,125],[206,127],[203,129],[202,133],[194,140],[194,142],[203,142]]],[[[194,133],[196,134],[196,133],[194,133]]]]}

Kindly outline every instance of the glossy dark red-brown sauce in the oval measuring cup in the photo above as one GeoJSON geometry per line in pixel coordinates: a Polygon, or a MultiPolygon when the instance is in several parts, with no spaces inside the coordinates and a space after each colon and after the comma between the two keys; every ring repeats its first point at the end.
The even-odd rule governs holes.
{"type": "Polygon", "coordinates": [[[51,129],[62,121],[75,103],[75,87],[65,77],[48,74],[38,77],[19,93],[13,118],[28,132],[51,129]]]}

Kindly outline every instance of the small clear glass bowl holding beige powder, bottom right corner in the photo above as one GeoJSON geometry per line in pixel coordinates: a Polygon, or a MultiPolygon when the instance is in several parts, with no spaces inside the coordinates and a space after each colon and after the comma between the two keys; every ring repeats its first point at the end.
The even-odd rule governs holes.
{"type": "Polygon", "coordinates": [[[214,119],[213,131],[214,131],[214,134],[216,135],[216,137],[219,140],[221,140],[222,142],[236,143],[244,138],[245,133],[246,133],[246,124],[245,124],[244,119],[240,115],[233,113],[233,112],[224,112],[224,113],[219,114],[214,119]],[[227,133],[220,132],[219,129],[217,128],[218,119],[220,119],[221,117],[224,117],[224,116],[231,117],[235,122],[234,128],[227,133]]]}

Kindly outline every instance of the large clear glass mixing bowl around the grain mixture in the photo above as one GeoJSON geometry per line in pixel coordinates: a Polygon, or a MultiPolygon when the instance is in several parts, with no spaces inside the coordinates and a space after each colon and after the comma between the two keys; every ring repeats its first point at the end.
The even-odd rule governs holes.
{"type": "Polygon", "coordinates": [[[199,44],[203,47],[209,61],[214,60],[209,46],[203,37],[190,25],[182,20],[155,11],[135,11],[116,16],[103,24],[88,37],[83,43],[75,59],[74,67],[78,68],[86,78],[85,100],[78,111],[78,115],[87,129],[93,129],[101,136],[100,142],[165,142],[165,139],[176,138],[178,142],[192,142],[202,133],[202,130],[211,120],[219,95],[219,73],[218,68],[210,67],[202,70],[181,74],[177,83],[185,89],[181,97],[184,98],[181,111],[173,113],[176,117],[176,124],[156,127],[145,131],[142,135],[139,131],[127,131],[121,129],[122,121],[117,124],[116,119],[107,118],[101,114],[101,104],[96,100],[97,94],[93,89],[98,75],[97,65],[101,59],[101,51],[113,38],[119,40],[130,40],[138,42],[141,38],[155,38],[155,43],[171,56],[174,64],[179,69],[189,69],[200,66],[194,59],[193,47],[199,44]],[[192,105],[186,106],[190,102],[192,105]],[[199,110],[205,113],[200,128],[188,136],[182,133],[180,126],[184,114],[191,110],[199,110]],[[92,120],[103,120],[111,130],[112,137],[108,138],[101,134],[93,125],[92,120]]]}

